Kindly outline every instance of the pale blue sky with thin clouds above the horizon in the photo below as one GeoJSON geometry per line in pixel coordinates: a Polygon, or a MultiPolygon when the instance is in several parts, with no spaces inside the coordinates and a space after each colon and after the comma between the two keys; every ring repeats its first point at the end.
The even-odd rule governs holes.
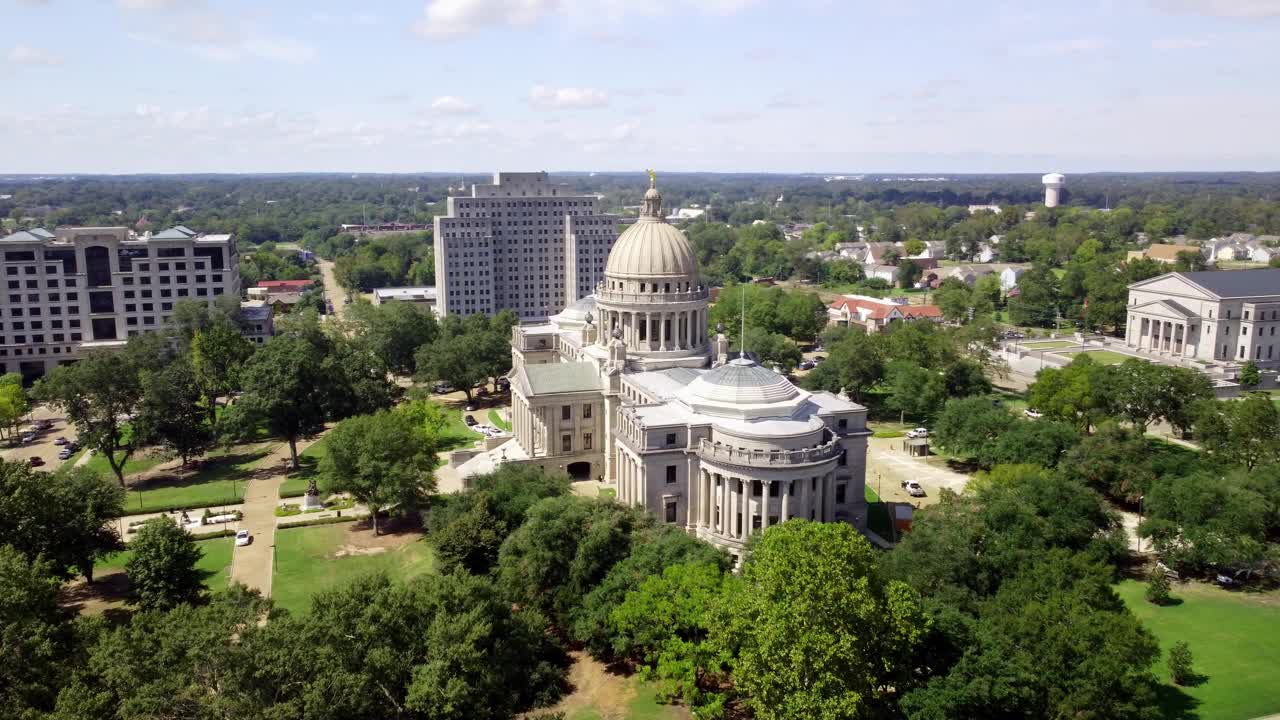
{"type": "Polygon", "coordinates": [[[0,0],[0,173],[1280,170],[1280,0],[0,0]]]}

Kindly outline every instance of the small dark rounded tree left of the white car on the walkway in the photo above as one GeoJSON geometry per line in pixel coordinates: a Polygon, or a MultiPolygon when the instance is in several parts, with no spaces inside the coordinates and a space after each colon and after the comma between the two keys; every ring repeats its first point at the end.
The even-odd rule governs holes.
{"type": "Polygon", "coordinates": [[[143,523],[124,565],[133,602],[143,610],[169,610],[198,602],[205,594],[204,577],[196,562],[204,551],[184,528],[169,518],[143,523]]]}

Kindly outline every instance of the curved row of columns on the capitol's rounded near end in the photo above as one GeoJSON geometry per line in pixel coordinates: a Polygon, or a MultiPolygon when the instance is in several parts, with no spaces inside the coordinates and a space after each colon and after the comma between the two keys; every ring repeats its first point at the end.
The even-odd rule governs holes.
{"type": "Polygon", "coordinates": [[[690,516],[694,527],[744,542],[754,532],[756,516],[760,518],[762,532],[769,528],[774,509],[778,510],[780,523],[791,518],[836,519],[833,471],[788,480],[753,480],[701,469],[691,483],[690,495],[696,501],[690,516]],[[755,483],[760,484],[758,496],[754,493],[755,483]],[[778,486],[777,497],[769,493],[772,486],[778,486]]]}

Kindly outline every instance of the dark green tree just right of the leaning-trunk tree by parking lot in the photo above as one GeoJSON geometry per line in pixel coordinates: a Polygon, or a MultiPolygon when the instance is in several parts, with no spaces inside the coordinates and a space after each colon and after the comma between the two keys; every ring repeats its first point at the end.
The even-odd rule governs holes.
{"type": "Polygon", "coordinates": [[[172,450],[187,465],[214,442],[209,416],[200,406],[202,397],[187,357],[159,372],[143,372],[137,425],[145,428],[146,437],[172,450]]]}

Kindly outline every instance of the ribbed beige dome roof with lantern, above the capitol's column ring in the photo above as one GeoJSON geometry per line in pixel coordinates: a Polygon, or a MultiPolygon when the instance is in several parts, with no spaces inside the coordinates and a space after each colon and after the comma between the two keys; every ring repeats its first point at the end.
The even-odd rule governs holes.
{"type": "Polygon", "coordinates": [[[623,284],[653,279],[698,286],[694,247],[685,233],[662,217],[662,195],[657,187],[645,191],[640,218],[613,243],[604,275],[623,284]]]}

